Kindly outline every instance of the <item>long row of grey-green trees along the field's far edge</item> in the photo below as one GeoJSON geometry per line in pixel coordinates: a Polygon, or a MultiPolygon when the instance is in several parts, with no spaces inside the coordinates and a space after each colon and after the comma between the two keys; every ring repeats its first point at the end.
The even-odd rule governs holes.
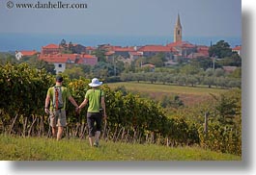
{"type": "Polygon", "coordinates": [[[179,85],[179,86],[200,86],[208,87],[241,87],[241,78],[233,78],[225,75],[223,69],[217,68],[207,69],[201,74],[196,74],[200,70],[194,70],[193,66],[185,65],[182,73],[170,74],[168,72],[140,72],[140,73],[122,73],[120,80],[124,82],[141,81],[150,82],[152,84],[162,83],[164,85],[179,85]]]}

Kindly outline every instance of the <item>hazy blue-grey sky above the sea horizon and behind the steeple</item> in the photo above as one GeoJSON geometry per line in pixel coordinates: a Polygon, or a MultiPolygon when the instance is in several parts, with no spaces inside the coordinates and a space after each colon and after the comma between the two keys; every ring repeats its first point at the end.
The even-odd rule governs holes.
{"type": "MultiPolygon", "coordinates": [[[[241,37],[241,0],[62,0],[87,9],[8,9],[0,1],[0,33],[170,36],[180,13],[186,37],[241,37]]],[[[37,3],[12,0],[14,3],[37,3]]],[[[60,0],[41,0],[40,3],[60,0]]]]}

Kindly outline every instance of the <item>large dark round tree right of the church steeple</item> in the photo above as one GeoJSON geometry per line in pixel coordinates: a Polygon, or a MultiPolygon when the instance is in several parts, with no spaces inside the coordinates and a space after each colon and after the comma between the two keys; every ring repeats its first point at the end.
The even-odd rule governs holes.
{"type": "Polygon", "coordinates": [[[232,49],[228,42],[224,40],[219,40],[216,44],[209,48],[210,57],[217,57],[222,59],[225,57],[230,57],[232,55],[232,49]]]}

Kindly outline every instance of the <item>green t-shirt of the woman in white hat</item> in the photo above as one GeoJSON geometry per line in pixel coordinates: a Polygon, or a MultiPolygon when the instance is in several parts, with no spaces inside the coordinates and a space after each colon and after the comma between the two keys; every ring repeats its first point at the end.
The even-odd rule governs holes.
{"type": "Polygon", "coordinates": [[[88,112],[100,112],[100,93],[101,97],[104,96],[104,92],[100,89],[89,89],[86,91],[85,98],[89,103],[88,112]]]}

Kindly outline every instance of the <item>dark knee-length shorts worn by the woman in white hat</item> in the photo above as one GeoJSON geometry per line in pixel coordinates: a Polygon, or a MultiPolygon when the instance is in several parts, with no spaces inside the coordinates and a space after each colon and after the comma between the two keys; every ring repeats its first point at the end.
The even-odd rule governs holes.
{"type": "Polygon", "coordinates": [[[89,137],[94,137],[95,132],[101,131],[102,116],[100,112],[87,112],[87,124],[89,128],[89,137]]]}

